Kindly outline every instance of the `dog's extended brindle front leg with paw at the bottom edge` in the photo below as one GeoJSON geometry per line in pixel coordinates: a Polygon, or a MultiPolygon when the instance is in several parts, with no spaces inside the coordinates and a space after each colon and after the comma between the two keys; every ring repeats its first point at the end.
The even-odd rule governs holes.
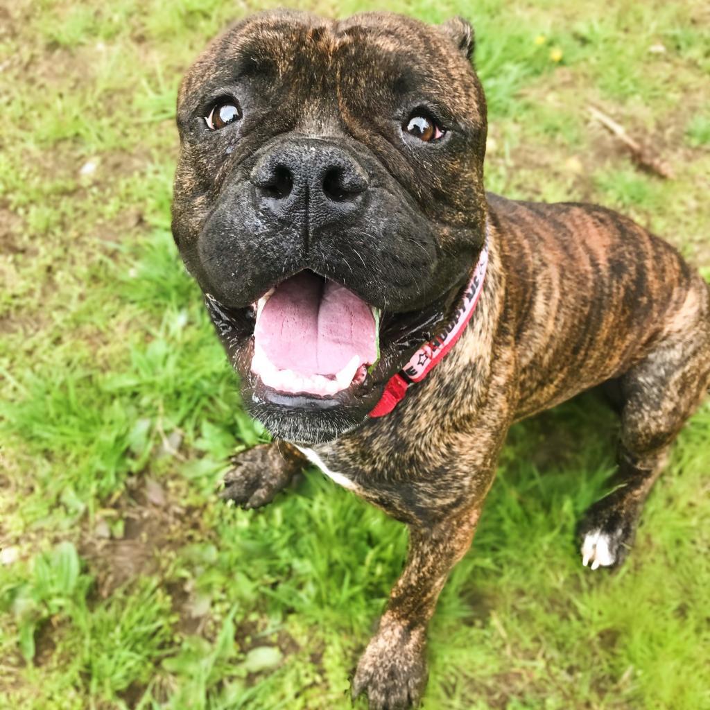
{"type": "Polygon", "coordinates": [[[480,512],[479,505],[433,528],[410,525],[404,571],[352,684],[353,697],[366,692],[370,710],[419,703],[427,683],[427,624],[449,572],[471,545],[480,512]]]}

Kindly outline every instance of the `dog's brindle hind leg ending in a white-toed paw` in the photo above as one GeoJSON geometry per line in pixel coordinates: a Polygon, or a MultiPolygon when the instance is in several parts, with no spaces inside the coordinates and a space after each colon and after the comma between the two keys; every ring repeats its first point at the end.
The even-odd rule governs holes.
{"type": "Polygon", "coordinates": [[[623,562],[670,446],[709,384],[710,297],[699,283],[669,317],[657,346],[618,378],[622,406],[617,487],[591,506],[579,525],[585,566],[623,562]]]}

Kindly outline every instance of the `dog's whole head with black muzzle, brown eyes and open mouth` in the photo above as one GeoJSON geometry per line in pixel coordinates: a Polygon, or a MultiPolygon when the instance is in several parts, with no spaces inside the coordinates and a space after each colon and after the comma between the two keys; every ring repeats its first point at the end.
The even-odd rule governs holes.
{"type": "Polygon", "coordinates": [[[274,435],[363,422],[484,241],[471,29],[253,16],[180,87],[173,234],[274,435]]]}

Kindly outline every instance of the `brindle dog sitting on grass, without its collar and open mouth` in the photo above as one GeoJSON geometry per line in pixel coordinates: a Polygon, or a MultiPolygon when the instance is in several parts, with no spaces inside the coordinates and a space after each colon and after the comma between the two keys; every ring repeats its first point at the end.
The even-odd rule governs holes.
{"type": "Polygon", "coordinates": [[[672,246],[602,207],[484,192],[473,46],[458,18],[261,14],[209,45],[178,99],[175,241],[246,407],[282,440],[236,457],[224,496],[263,506],[310,460],[409,526],[405,569],[354,675],[372,709],[421,697],[427,623],[511,423],[613,390],[619,486],[581,523],[584,563],[611,567],[710,382],[710,292],[672,246]],[[450,321],[486,239],[459,342],[390,414],[368,417],[450,321]],[[255,305],[305,270],[380,309],[378,359],[329,395],[253,371],[255,305]]]}

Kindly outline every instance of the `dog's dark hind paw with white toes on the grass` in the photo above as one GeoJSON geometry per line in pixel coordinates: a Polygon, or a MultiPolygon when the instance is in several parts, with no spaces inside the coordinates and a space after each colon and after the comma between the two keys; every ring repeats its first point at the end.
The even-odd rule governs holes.
{"type": "Polygon", "coordinates": [[[591,506],[579,525],[584,567],[617,567],[628,555],[635,537],[638,506],[628,501],[625,489],[591,506]]]}

